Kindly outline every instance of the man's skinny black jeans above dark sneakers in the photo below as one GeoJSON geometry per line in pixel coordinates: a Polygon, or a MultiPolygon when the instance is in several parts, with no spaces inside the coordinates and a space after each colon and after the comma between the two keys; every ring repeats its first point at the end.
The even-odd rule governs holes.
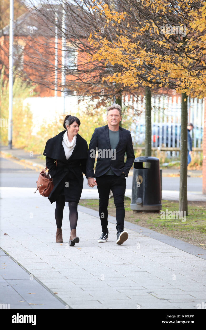
{"type": "Polygon", "coordinates": [[[107,225],[107,217],[108,211],[107,206],[109,204],[109,192],[110,189],[113,193],[114,204],[116,207],[116,220],[117,230],[124,230],[124,194],[126,189],[126,178],[124,173],[118,177],[117,175],[102,175],[101,177],[96,178],[96,182],[98,184],[97,189],[99,192],[99,215],[102,225],[102,231],[108,231],[107,225]]]}

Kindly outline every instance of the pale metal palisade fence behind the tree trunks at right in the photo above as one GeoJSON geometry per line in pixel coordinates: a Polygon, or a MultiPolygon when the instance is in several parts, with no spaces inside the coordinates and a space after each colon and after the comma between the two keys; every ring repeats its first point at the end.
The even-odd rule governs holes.
{"type": "MultiPolygon", "coordinates": [[[[180,147],[181,97],[157,95],[152,97],[152,147],[180,147]]],[[[134,116],[131,134],[134,145],[144,145],[145,140],[145,96],[132,101],[125,97],[125,105],[133,104],[141,116],[134,116]]],[[[193,147],[201,148],[204,125],[204,99],[188,97],[188,122],[194,126],[190,132],[193,147]]]]}

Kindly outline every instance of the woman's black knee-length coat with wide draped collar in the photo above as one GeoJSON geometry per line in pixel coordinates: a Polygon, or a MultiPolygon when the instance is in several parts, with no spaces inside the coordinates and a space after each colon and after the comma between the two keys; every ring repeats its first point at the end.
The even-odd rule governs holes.
{"type": "Polygon", "coordinates": [[[49,139],[43,152],[46,156],[46,166],[54,182],[54,189],[52,189],[48,199],[53,203],[59,195],[65,195],[65,202],[78,203],[84,181],[82,172],[86,173],[88,146],[87,141],[77,133],[76,145],[71,156],[66,160],[62,146],[64,133],[65,131],[62,131],[49,139]],[[58,160],[57,167],[56,159],[58,160]]]}

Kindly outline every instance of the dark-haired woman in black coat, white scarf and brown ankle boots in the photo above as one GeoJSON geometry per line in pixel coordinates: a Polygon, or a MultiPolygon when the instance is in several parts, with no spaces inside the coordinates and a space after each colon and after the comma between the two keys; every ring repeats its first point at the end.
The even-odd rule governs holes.
{"type": "Polygon", "coordinates": [[[44,149],[46,166],[53,178],[54,189],[48,199],[56,202],[55,219],[57,224],[56,243],[63,243],[62,218],[65,202],[69,204],[69,222],[71,236],[69,245],[79,243],[76,236],[78,219],[77,205],[79,203],[82,188],[83,174],[86,171],[87,142],[79,134],[80,120],[68,115],[65,117],[63,127],[65,130],[49,139],[44,149]],[[56,166],[57,160],[57,166],[56,166]]]}

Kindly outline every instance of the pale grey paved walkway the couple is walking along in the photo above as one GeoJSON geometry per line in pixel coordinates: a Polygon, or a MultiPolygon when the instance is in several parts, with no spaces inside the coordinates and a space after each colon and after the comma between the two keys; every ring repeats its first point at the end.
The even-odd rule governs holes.
{"type": "Polygon", "coordinates": [[[55,203],[33,188],[1,188],[0,202],[1,248],[71,308],[196,309],[206,299],[206,261],[161,242],[158,233],[154,239],[126,224],[129,239],[118,246],[111,221],[109,240],[98,243],[99,217],[80,208],[80,243],[69,247],[68,207],[64,243],[56,244],[55,203]]]}

